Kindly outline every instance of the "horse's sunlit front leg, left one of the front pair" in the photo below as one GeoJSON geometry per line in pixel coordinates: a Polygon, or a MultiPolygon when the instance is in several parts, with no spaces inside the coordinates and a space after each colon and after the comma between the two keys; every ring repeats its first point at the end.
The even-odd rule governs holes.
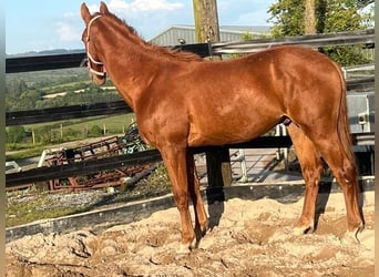
{"type": "Polygon", "coordinates": [[[195,232],[188,208],[187,150],[186,147],[171,145],[160,151],[172,183],[174,198],[181,215],[182,242],[177,253],[190,253],[195,239],[195,232]]]}

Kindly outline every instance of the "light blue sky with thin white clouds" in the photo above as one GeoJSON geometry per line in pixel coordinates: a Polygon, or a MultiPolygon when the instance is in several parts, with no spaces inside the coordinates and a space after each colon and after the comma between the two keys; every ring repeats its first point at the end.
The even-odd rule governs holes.
{"type": "MultiPolygon", "coordinates": [[[[83,49],[83,0],[7,0],[6,52],[83,49]]],[[[150,40],[174,24],[194,24],[191,0],[104,0],[111,12],[150,40]]],[[[267,25],[275,0],[217,0],[219,25],[267,25]]],[[[91,12],[100,0],[86,0],[91,12]]]]}

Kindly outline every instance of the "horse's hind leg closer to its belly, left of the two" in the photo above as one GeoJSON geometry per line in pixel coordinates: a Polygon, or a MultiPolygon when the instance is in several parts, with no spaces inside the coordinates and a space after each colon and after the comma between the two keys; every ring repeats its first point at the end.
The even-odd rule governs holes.
{"type": "Polygon", "coordinates": [[[306,183],[303,213],[294,229],[295,234],[304,234],[315,228],[316,201],[322,173],[322,163],[315,144],[298,126],[290,124],[287,129],[306,183]]]}

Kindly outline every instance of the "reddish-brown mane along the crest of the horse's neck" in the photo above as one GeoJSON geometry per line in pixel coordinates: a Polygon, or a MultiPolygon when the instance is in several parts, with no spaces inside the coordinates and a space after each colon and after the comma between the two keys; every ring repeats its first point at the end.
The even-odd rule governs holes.
{"type": "Polygon", "coordinates": [[[170,49],[170,48],[163,48],[160,45],[148,43],[145,40],[143,40],[140,37],[140,34],[136,32],[136,30],[133,27],[129,25],[125,22],[125,20],[117,18],[115,14],[113,14],[111,12],[107,16],[113,18],[117,22],[117,24],[125,27],[130,38],[133,39],[136,43],[139,43],[140,45],[142,45],[143,48],[145,48],[147,50],[151,50],[157,54],[165,55],[165,57],[176,59],[176,60],[181,60],[181,61],[204,61],[201,57],[198,57],[197,54],[191,53],[191,52],[185,52],[185,51],[181,52],[178,50],[174,50],[174,49],[170,49]]]}

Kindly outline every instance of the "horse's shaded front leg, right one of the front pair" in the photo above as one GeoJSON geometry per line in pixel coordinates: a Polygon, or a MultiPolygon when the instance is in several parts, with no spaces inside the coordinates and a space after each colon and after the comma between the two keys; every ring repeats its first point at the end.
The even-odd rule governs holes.
{"type": "MultiPolygon", "coordinates": [[[[188,191],[195,212],[195,233],[197,240],[205,235],[208,229],[208,217],[204,208],[203,198],[199,191],[199,182],[192,151],[187,153],[188,191]]],[[[198,242],[197,242],[198,243],[198,242]]]]}

